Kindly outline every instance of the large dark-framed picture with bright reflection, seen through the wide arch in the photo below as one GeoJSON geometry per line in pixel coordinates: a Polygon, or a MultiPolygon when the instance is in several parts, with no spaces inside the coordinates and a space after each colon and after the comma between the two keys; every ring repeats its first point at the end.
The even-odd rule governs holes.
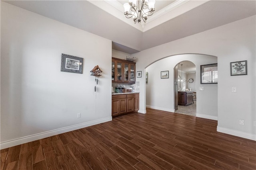
{"type": "Polygon", "coordinates": [[[218,83],[218,64],[201,65],[201,84],[218,83]]]}

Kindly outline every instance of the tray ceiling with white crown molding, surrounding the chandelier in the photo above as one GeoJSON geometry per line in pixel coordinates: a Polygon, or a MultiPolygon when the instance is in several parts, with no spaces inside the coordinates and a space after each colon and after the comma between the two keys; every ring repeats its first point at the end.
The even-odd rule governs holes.
{"type": "Polygon", "coordinates": [[[4,1],[110,39],[112,48],[133,54],[256,14],[255,0],[156,0],[146,24],[125,18],[128,0],[4,1]]]}

